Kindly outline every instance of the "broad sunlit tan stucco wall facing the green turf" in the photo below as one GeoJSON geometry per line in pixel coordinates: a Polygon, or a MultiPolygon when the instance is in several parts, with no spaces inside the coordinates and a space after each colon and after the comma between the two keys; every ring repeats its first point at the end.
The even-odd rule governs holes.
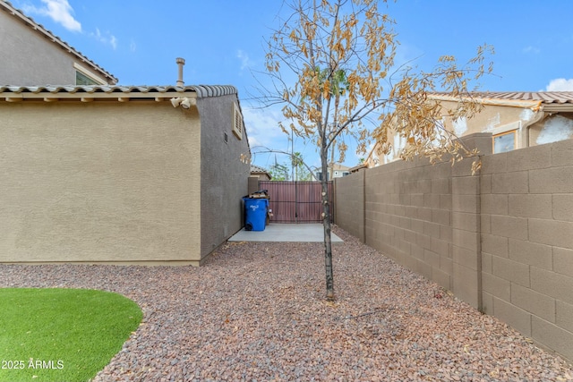
{"type": "Polygon", "coordinates": [[[200,123],[169,102],[0,107],[0,261],[201,259],[200,123]]]}

